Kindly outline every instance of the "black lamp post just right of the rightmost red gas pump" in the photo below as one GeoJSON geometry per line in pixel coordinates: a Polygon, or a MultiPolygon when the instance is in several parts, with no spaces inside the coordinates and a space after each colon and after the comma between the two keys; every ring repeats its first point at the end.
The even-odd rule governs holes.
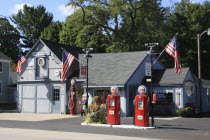
{"type": "MultiPolygon", "coordinates": [[[[153,60],[152,60],[152,56],[153,56],[153,53],[154,53],[154,50],[153,48],[155,46],[158,46],[159,43],[147,43],[145,44],[146,47],[149,47],[150,48],[150,51],[148,52],[148,54],[150,55],[150,63],[151,63],[151,73],[149,74],[150,77],[151,77],[151,87],[150,87],[150,94],[149,94],[149,104],[151,106],[151,124],[152,126],[154,126],[154,114],[153,114],[153,103],[152,103],[152,97],[153,97],[153,75],[152,75],[152,65],[153,65],[153,60]]],[[[149,76],[148,75],[148,76],[149,76]]]]}

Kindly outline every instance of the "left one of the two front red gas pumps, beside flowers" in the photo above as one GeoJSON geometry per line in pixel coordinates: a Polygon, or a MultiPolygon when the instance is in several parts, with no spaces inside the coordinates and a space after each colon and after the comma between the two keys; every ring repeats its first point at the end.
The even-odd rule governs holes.
{"type": "Polygon", "coordinates": [[[111,87],[111,92],[106,100],[107,124],[120,124],[120,96],[116,94],[117,87],[111,87]]]}

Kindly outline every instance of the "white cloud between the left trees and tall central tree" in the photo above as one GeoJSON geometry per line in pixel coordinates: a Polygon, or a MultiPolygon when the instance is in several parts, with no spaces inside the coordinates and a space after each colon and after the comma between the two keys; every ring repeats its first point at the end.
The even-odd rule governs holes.
{"type": "Polygon", "coordinates": [[[66,6],[65,4],[62,4],[58,6],[58,11],[65,16],[73,14],[77,9],[79,9],[79,7],[75,7],[72,5],[66,6]]]}

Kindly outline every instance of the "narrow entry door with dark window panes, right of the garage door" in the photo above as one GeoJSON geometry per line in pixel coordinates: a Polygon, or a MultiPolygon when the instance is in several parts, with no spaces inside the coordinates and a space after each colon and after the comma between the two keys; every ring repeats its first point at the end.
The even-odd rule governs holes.
{"type": "Polygon", "coordinates": [[[53,87],[52,112],[60,114],[60,87],[53,87]]]}

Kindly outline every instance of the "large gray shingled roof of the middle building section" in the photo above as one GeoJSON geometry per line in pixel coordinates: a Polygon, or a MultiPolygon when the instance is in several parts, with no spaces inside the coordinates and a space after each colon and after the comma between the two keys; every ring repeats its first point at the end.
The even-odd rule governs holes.
{"type": "MultiPolygon", "coordinates": [[[[91,54],[89,58],[89,85],[124,85],[147,55],[147,51],[91,54]]],[[[84,54],[79,60],[86,63],[84,54]]]]}

